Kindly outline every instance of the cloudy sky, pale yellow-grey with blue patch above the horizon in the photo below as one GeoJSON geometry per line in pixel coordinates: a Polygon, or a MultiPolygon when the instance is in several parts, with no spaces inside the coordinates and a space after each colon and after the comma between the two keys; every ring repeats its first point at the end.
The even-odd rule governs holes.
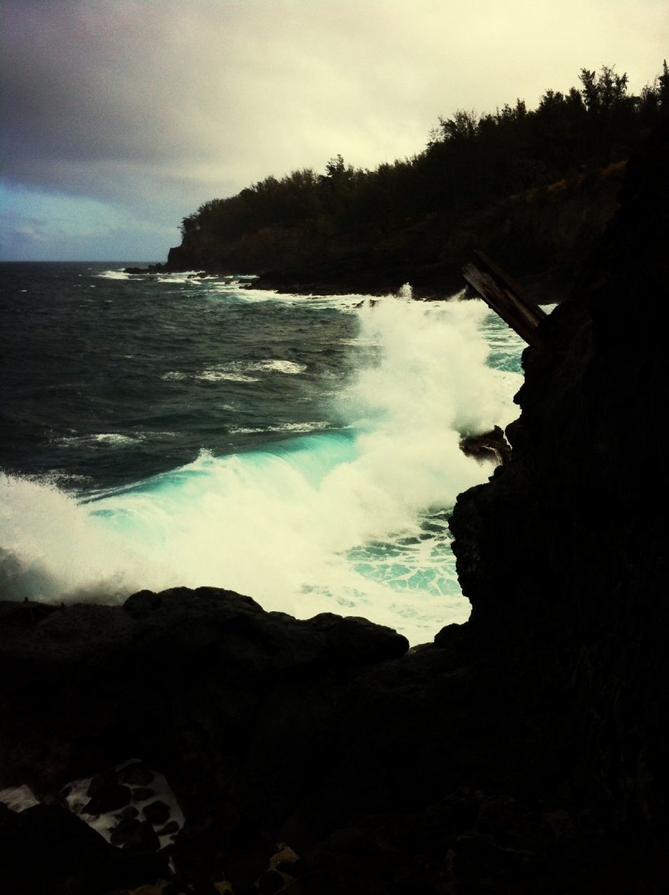
{"type": "Polygon", "coordinates": [[[4,260],[165,260],[267,175],[376,167],[438,115],[667,55],[666,0],[4,0],[4,260]]]}

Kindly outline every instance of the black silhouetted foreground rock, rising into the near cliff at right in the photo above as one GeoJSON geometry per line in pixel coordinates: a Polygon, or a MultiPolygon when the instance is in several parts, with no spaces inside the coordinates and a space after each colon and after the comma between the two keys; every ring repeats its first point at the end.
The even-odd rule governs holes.
{"type": "Polygon", "coordinates": [[[466,625],[408,650],[209,588],[4,605],[0,788],[42,804],[0,806],[3,891],[665,891],[668,199],[669,124],[525,354],[510,461],[458,499],[466,625]],[[185,817],[163,848],[65,803],[97,775],[89,816],[123,814],[128,771],[99,775],[133,758],[185,817]]]}

